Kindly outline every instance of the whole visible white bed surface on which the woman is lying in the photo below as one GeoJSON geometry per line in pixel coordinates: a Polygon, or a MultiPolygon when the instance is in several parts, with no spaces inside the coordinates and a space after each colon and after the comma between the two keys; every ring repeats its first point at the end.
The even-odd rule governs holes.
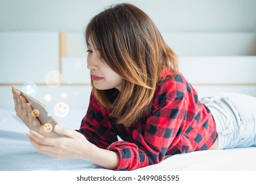
{"type": "MultiPolygon", "coordinates": [[[[70,110],[72,119],[59,121],[63,126],[77,129],[84,112],[84,109],[70,110]],[[67,122],[70,121],[73,123],[68,124],[67,122]]],[[[86,160],[57,160],[39,154],[28,141],[27,131],[28,128],[14,115],[14,110],[0,109],[0,170],[105,170],[86,160]]],[[[160,164],[138,170],[256,170],[255,156],[256,147],[204,150],[176,154],[166,158],[160,164]]]]}

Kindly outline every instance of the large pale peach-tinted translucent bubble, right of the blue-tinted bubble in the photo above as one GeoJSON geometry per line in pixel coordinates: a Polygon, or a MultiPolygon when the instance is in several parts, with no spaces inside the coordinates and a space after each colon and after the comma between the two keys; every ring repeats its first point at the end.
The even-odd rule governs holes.
{"type": "Polygon", "coordinates": [[[49,87],[59,87],[63,82],[61,73],[57,70],[51,70],[45,75],[45,83],[49,87]]]}

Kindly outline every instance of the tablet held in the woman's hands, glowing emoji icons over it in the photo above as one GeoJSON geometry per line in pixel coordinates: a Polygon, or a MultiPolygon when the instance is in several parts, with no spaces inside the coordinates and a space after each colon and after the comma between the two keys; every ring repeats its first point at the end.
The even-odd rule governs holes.
{"type": "MultiPolygon", "coordinates": [[[[18,89],[17,89],[18,90],[18,89]]],[[[18,90],[20,91],[20,90],[18,90]]],[[[54,130],[54,127],[58,124],[57,121],[51,116],[50,111],[47,109],[45,104],[40,103],[33,97],[30,97],[29,95],[26,95],[22,91],[20,91],[20,94],[26,99],[28,103],[32,106],[32,116],[38,118],[39,122],[43,125],[43,131],[50,133],[53,132],[59,137],[63,137],[63,135],[56,133],[54,130]]]]}

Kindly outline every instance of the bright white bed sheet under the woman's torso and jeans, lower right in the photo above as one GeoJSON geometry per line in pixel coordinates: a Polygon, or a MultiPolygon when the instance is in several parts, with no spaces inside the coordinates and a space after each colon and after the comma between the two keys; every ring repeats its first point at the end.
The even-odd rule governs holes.
{"type": "Polygon", "coordinates": [[[141,171],[256,171],[256,147],[176,154],[141,171]]]}

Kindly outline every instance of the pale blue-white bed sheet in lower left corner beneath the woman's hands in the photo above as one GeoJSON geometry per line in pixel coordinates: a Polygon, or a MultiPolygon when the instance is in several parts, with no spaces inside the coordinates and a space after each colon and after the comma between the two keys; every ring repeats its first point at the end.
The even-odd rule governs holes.
{"type": "Polygon", "coordinates": [[[0,170],[104,170],[80,159],[58,160],[39,154],[25,133],[0,130],[0,170]]]}

